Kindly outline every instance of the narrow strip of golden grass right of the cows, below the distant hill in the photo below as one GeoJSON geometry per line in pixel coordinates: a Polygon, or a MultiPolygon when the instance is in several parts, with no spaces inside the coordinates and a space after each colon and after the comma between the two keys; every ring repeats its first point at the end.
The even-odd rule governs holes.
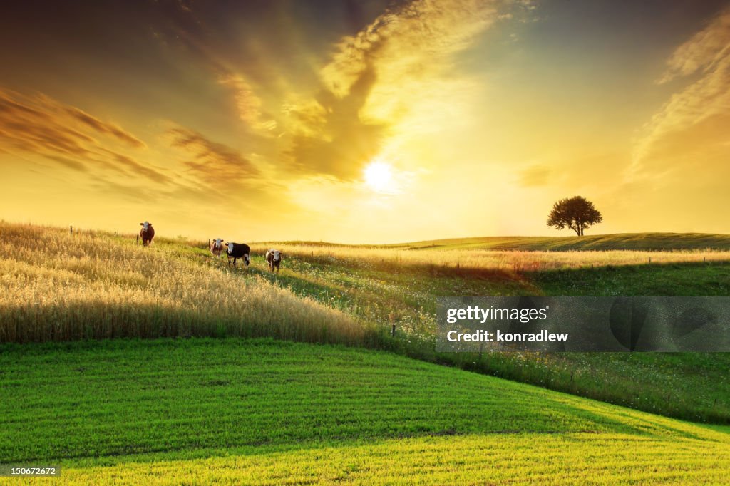
{"type": "MultiPolygon", "coordinates": [[[[265,252],[272,244],[252,244],[265,252]]],[[[333,247],[315,244],[274,244],[284,255],[345,263],[358,268],[461,269],[473,271],[540,271],[590,266],[625,266],[662,263],[730,261],[730,252],[684,251],[502,251],[502,250],[404,250],[397,248],[333,247]]]]}

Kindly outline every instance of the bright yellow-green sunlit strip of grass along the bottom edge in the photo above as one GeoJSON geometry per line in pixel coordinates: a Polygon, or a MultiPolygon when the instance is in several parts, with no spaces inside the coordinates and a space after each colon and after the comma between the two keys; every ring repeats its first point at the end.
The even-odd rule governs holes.
{"type": "Polygon", "coordinates": [[[723,441],[595,433],[428,436],[66,468],[63,475],[67,485],[723,485],[730,463],[724,435],[723,441]]]}

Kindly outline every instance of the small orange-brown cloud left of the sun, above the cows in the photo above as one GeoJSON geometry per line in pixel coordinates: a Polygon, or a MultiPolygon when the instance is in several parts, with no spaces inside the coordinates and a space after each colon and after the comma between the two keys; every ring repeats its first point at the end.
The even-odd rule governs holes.
{"type": "MultiPolygon", "coordinates": [[[[213,142],[189,128],[175,127],[167,131],[172,147],[191,157],[184,165],[198,180],[215,190],[230,190],[258,180],[260,172],[238,150],[213,142]]],[[[258,181],[261,182],[261,181],[258,181]]]]}

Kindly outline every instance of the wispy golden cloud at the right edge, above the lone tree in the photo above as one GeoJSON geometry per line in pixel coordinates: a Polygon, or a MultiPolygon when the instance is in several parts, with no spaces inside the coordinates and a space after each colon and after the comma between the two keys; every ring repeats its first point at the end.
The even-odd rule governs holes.
{"type": "Polygon", "coordinates": [[[660,84],[695,77],[672,94],[643,127],[634,147],[637,171],[686,165],[702,158],[707,150],[726,145],[724,134],[730,131],[730,9],[677,47],[667,66],[660,84]]]}

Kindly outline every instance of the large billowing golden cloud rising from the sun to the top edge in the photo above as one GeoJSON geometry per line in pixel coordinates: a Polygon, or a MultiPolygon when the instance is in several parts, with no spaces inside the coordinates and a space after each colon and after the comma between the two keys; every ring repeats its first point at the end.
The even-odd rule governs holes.
{"type": "Polygon", "coordinates": [[[422,136],[458,118],[461,98],[453,93],[476,83],[459,76],[453,56],[507,4],[410,1],[340,39],[320,69],[316,101],[283,109],[293,168],[353,180],[399,134],[422,136]]]}

